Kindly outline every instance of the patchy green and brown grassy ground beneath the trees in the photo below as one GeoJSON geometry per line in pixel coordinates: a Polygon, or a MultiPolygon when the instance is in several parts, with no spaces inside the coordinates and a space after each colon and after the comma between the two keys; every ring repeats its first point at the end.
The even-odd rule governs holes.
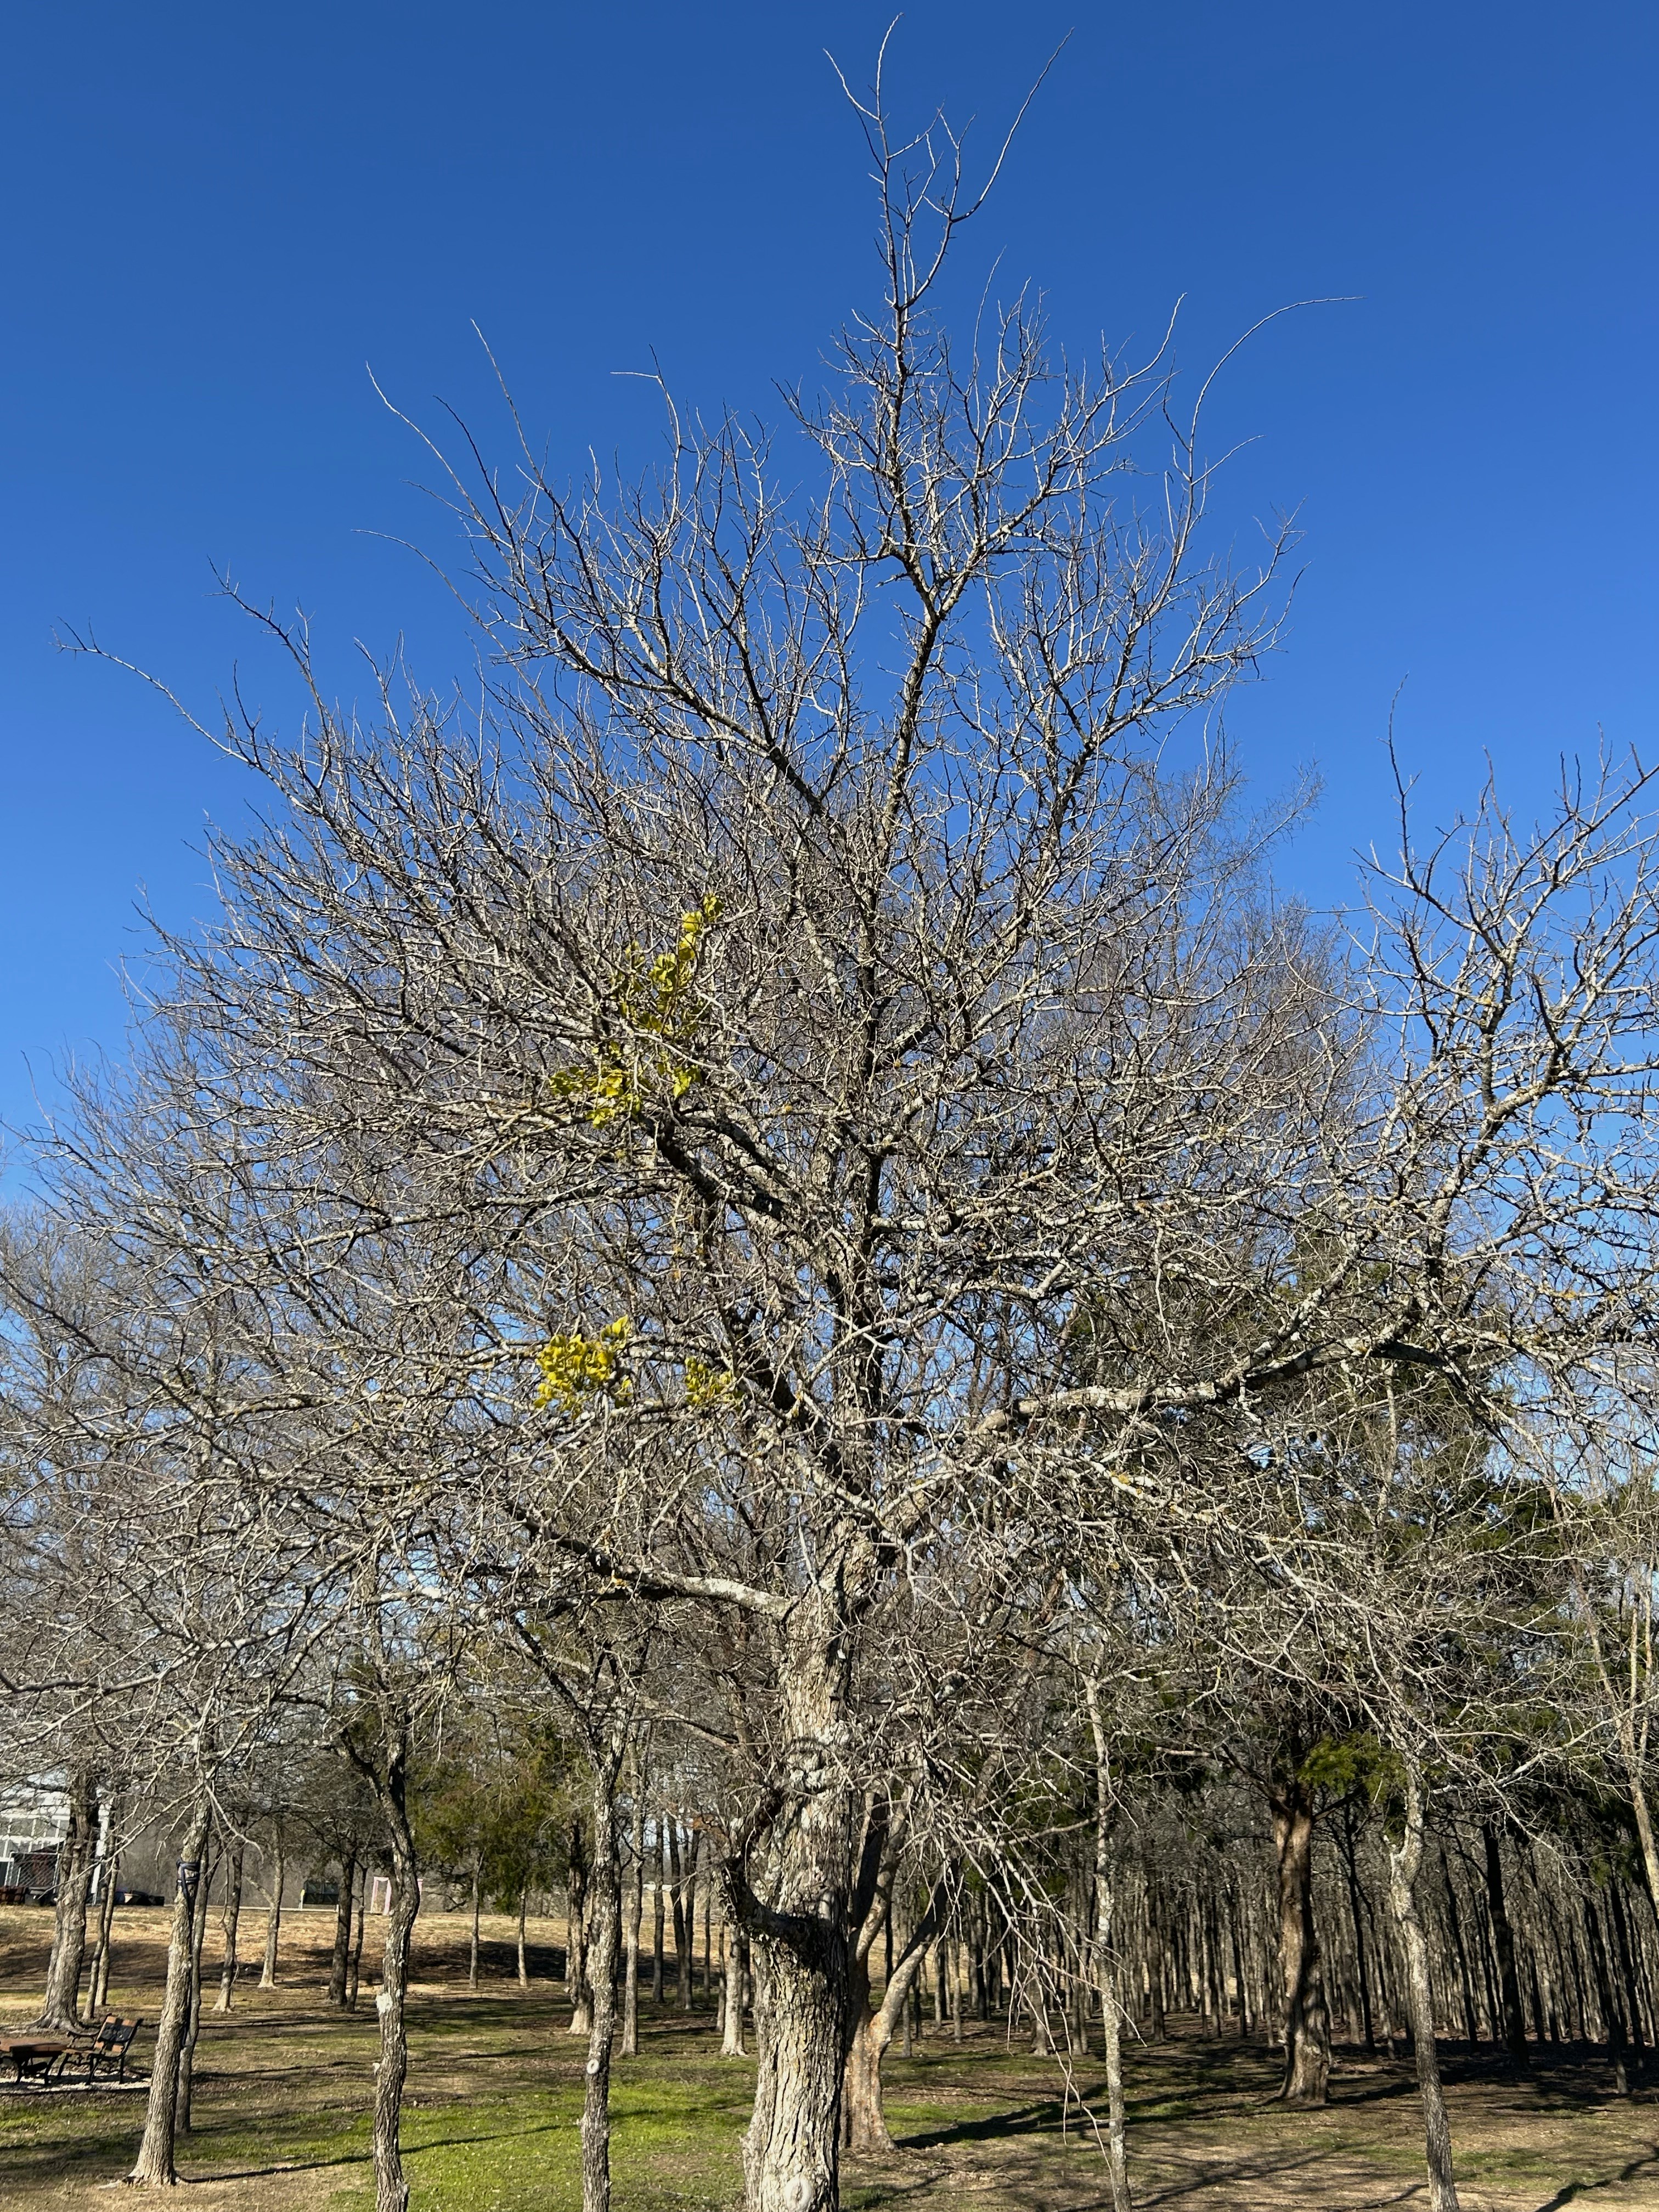
{"type": "MultiPolygon", "coordinates": [[[[261,1916],[250,1933],[259,1938],[261,1916]]],[[[374,2008],[319,2002],[332,1913],[285,1922],[283,1986],[237,1993],[204,2020],[197,2126],[181,2143],[188,2203],[201,2212],[369,2212],[367,2099],[374,2008]]],[[[582,2044],[549,1982],[553,1951],[531,1951],[533,1986],[511,1980],[507,1922],[487,1922],[487,1975],[467,1991],[465,1922],[422,1918],[411,2002],[405,2154],[418,2212],[575,2212],[582,2044]]],[[[555,1933],[555,1931],[546,1931],[555,1933]]],[[[0,1909],[0,2022],[38,2004],[49,1920],[0,1909]]],[[[166,1918],[117,1918],[111,2004],[150,2022],[166,1918]]],[[[139,2035],[139,2070],[148,2053],[139,2035]]],[[[752,2062],[721,2062],[712,2020],[664,2011],[639,2059],[615,2075],[617,2212],[730,2212],[752,2062]]],[[[1422,2205],[1416,2088],[1405,2064],[1338,2066],[1325,2112],[1272,2101],[1261,2046],[1177,2035],[1130,2053],[1135,2197],[1179,2212],[1380,2212],[1422,2205]]],[[[1451,2115],[1467,2212],[1659,2212],[1659,2101],[1617,2101],[1593,2053],[1509,2079],[1478,2053],[1449,2055],[1451,2115]]],[[[1079,2066],[1095,2106],[1099,2068],[1079,2066]]],[[[995,2031],[962,2046],[929,2039],[887,2068],[898,2152],[854,2161],[856,2212],[1084,2212],[1108,2205],[1086,2115],[1064,2108],[1051,2059],[1009,2051],[995,2031]]],[[[131,2166],[142,2097],[0,2097],[0,2208],[106,2205],[131,2166]]]]}

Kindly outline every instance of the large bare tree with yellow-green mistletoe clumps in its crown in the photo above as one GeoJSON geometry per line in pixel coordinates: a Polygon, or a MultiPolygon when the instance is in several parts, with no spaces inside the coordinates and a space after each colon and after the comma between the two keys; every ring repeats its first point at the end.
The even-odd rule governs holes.
{"type": "MultiPolygon", "coordinates": [[[[1272,648],[1287,546],[1203,557],[1210,387],[1177,414],[1161,354],[1055,365],[1026,296],[956,345],[962,142],[898,144],[880,88],[854,108],[885,294],[834,389],[787,400],[801,491],[765,434],[672,405],[637,487],[560,487],[529,440],[511,484],[447,476],[476,719],[387,672],[365,732],[305,633],[257,617],[307,721],[223,730],[272,823],[217,845],[223,922],[173,945],[157,1097],[217,1148],[215,1296],[358,1557],[427,1546],[476,1604],[619,1608],[677,1652],[653,1710],[734,1807],[752,2212],[838,2201],[905,1794],[942,1803],[1018,1692],[995,1648],[1044,1652],[1066,1593],[1124,1573],[1203,1590],[1287,1697],[1336,1681],[1405,1763],[1396,1920],[1449,2208],[1411,1929],[1425,1765],[1473,1772],[1491,1732],[1453,1719],[1433,1628],[1447,1573],[1482,1597],[1491,1566],[1405,1540],[1398,1451],[1358,1480],[1323,1438],[1376,1433],[1416,1376],[1500,1436],[1517,1391],[1584,1387],[1650,1321],[1646,776],[1568,779],[1535,834],[1489,794],[1407,838],[1354,947],[1274,898],[1219,741],[1172,765],[1272,648]],[[991,1626],[940,1674],[967,1590],[991,1626]]],[[[204,1248],[177,1175],[104,1181],[204,1248]]],[[[599,2203],[622,1739],[591,1754],[599,2203]]],[[[405,1765],[398,1730],[365,1765],[394,1827],[405,1765]]],[[[1283,1781],[1287,2090],[1314,2095],[1283,1781]]],[[[989,1805],[958,1820],[1004,1849],[989,1805]]],[[[998,1882],[1042,1909],[1013,1854],[998,1882]]],[[[400,1973],[389,1947],[380,2212],[407,2197],[400,1973]]],[[[1117,2117],[1110,2163],[1121,2197],[1117,2117]]]]}

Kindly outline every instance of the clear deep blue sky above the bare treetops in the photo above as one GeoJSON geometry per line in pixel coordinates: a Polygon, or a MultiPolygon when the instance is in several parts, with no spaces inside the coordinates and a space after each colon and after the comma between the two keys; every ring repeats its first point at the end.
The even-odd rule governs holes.
{"type": "MultiPolygon", "coordinates": [[[[442,549],[369,389],[495,436],[471,323],[555,467],[646,462],[617,369],[770,403],[874,292],[860,148],[823,60],[867,75],[887,7],[562,0],[18,9],[0,88],[0,1113],[24,1055],[119,1046],[135,896],[210,911],[206,814],[246,785],[115,670],[91,622],[195,703],[241,664],[288,692],[210,564],[303,602],[325,668],[398,633],[465,666],[436,588],[372,533],[442,549]]],[[[1241,535],[1301,504],[1290,650],[1232,717],[1263,792],[1314,763],[1287,874],[1340,898],[1387,836],[1389,699],[1444,812],[1537,796],[1562,750],[1655,748],[1659,11],[1531,0],[1181,9],[920,0],[902,113],[989,142],[1075,27],[971,252],[1048,292],[1062,338],[1155,332],[1201,367],[1261,312],[1217,436],[1254,436],[1241,535]]]]}

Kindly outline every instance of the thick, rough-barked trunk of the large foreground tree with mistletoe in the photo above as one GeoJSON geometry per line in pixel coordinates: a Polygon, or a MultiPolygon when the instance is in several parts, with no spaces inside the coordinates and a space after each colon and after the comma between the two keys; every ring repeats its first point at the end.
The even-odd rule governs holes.
{"type": "Polygon", "coordinates": [[[728,1909],[750,1929],[761,2064],[743,2137],[748,2212],[834,2212],[847,2059],[849,1858],[847,1635],[834,1601],[796,1608],[781,1655],[783,1803],[772,1902],[728,1863],[728,1909]]]}

